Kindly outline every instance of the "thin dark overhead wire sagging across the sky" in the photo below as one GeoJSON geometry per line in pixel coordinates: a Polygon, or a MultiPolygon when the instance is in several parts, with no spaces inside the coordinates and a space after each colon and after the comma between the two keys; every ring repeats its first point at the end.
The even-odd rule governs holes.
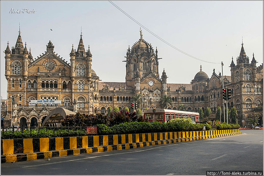
{"type": "MultiPolygon", "coordinates": [[[[202,59],[196,58],[184,51],[181,51],[180,49],[176,48],[175,46],[173,46],[172,44],[170,44],[169,42],[166,42],[164,39],[160,38],[159,36],[157,36],[156,34],[154,34],[152,31],[150,31],[147,27],[143,26],[142,24],[140,24],[137,20],[135,20],[134,18],[132,18],[130,15],[128,15],[125,11],[123,11],[121,8],[119,8],[117,5],[115,5],[112,1],[109,1],[113,6],[115,6],[118,10],[120,10],[122,13],[124,13],[127,17],[129,17],[131,20],[133,20],[135,23],[137,23],[139,26],[141,26],[142,28],[144,28],[145,30],[147,30],[150,34],[154,35],[155,37],[157,37],[158,39],[160,39],[162,42],[166,43],[167,45],[171,46],[172,48],[176,49],[177,51],[191,57],[194,58],[196,60],[199,61],[203,61],[203,62],[207,62],[207,63],[215,63],[215,62],[209,62],[209,61],[204,61],[202,59]]],[[[219,63],[216,63],[219,64],[219,63]]]]}

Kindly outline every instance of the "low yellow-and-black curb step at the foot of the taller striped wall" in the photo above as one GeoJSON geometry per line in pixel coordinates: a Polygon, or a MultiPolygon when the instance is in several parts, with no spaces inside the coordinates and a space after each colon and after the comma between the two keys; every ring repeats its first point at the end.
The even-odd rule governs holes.
{"type": "Polygon", "coordinates": [[[242,133],[233,132],[233,133],[227,133],[227,134],[216,134],[216,135],[207,135],[207,136],[199,136],[199,137],[186,137],[186,138],[179,138],[179,139],[166,139],[166,140],[147,141],[147,142],[135,142],[135,143],[126,143],[126,144],[117,144],[117,145],[77,148],[77,149],[64,149],[64,150],[33,152],[33,153],[17,153],[13,155],[1,155],[1,163],[31,161],[31,160],[36,160],[36,159],[45,159],[45,158],[51,158],[51,157],[57,157],[57,156],[79,155],[82,153],[125,150],[125,149],[133,149],[133,148],[139,148],[139,147],[151,146],[151,145],[171,144],[171,143],[177,143],[177,142],[186,142],[186,141],[208,139],[208,138],[215,138],[215,137],[222,137],[222,136],[232,136],[232,135],[238,135],[238,134],[242,134],[242,133]]]}

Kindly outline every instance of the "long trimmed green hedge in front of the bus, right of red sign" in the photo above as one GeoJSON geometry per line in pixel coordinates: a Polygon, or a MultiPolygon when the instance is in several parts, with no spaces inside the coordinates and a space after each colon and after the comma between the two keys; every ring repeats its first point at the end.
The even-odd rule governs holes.
{"type": "Polygon", "coordinates": [[[159,122],[125,122],[112,127],[104,124],[97,125],[99,135],[132,134],[153,132],[201,131],[204,125],[192,123],[159,123],[159,122]]]}

